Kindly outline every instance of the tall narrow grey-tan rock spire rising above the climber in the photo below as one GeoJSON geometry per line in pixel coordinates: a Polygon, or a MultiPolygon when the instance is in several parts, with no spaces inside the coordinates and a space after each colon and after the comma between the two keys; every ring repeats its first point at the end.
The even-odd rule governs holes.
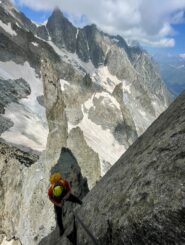
{"type": "Polygon", "coordinates": [[[44,105],[49,126],[47,140],[47,158],[57,159],[67,141],[67,118],[65,103],[59,84],[57,71],[46,57],[42,61],[42,77],[44,87],[44,105]]]}

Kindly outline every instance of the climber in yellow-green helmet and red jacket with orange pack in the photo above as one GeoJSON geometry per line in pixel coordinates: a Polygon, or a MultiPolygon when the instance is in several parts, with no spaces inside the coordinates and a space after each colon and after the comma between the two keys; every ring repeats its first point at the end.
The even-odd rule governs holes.
{"type": "Polygon", "coordinates": [[[60,173],[57,172],[50,176],[50,184],[48,196],[54,204],[56,221],[60,229],[60,236],[62,236],[64,233],[62,222],[62,207],[64,206],[64,202],[70,201],[82,205],[82,201],[71,193],[69,182],[63,179],[60,173]]]}

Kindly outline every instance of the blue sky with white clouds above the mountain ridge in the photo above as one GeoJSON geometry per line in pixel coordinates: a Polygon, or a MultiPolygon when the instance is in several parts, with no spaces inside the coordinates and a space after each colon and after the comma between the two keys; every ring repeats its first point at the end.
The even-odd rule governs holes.
{"type": "Polygon", "coordinates": [[[37,23],[58,6],[76,26],[94,23],[151,52],[185,53],[185,0],[12,0],[37,23]]]}

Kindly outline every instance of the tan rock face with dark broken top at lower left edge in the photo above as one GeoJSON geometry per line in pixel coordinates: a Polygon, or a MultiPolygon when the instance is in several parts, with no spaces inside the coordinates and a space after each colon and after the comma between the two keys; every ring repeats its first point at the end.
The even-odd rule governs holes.
{"type": "Polygon", "coordinates": [[[35,154],[0,143],[0,234],[6,234],[7,239],[15,237],[19,229],[24,169],[37,160],[35,154]]]}

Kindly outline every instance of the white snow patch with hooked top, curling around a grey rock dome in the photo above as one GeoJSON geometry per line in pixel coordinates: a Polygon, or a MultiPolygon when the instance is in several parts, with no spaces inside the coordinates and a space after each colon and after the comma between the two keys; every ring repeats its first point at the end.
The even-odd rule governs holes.
{"type": "MultiPolygon", "coordinates": [[[[83,131],[88,146],[99,154],[101,162],[101,175],[103,176],[108,170],[108,168],[105,169],[105,163],[106,165],[113,165],[126,149],[115,140],[111,130],[102,129],[101,125],[95,124],[88,118],[90,108],[94,107],[94,97],[98,98],[100,96],[101,93],[93,95],[82,105],[84,117],[83,120],[76,126],[80,127],[83,131]]],[[[115,103],[114,106],[118,106],[117,101],[115,102],[114,98],[110,98],[111,96],[108,93],[105,93],[104,96],[108,96],[108,99],[115,103]]],[[[68,130],[71,130],[76,126],[69,124],[68,130]]]]}

